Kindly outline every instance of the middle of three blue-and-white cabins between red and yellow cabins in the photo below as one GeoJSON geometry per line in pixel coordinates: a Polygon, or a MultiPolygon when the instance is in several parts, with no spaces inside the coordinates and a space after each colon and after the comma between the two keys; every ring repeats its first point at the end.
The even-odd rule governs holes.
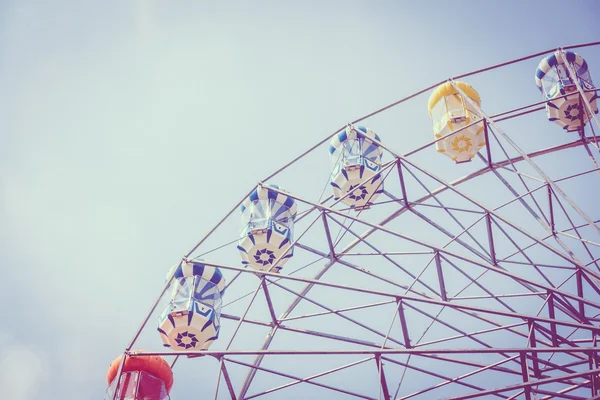
{"type": "Polygon", "coordinates": [[[296,202],[275,190],[259,186],[241,205],[242,228],[238,250],[242,264],[259,271],[279,272],[293,254],[296,202]]]}

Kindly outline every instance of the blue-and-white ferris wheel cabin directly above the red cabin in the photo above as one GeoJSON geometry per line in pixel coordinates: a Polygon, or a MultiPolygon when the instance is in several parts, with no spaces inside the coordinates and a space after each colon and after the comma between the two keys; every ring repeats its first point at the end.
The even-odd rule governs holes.
{"type": "Polygon", "coordinates": [[[163,345],[175,351],[208,350],[219,337],[223,274],[199,262],[182,262],[171,287],[171,300],[159,318],[163,345]]]}

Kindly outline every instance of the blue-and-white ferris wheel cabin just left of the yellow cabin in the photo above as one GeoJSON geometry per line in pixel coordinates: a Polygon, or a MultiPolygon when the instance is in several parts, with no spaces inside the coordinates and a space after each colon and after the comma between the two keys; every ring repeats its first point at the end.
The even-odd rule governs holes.
{"type": "Polygon", "coordinates": [[[329,145],[334,199],[356,210],[368,208],[383,193],[383,149],[373,139],[381,141],[369,128],[349,125],[329,145]]]}

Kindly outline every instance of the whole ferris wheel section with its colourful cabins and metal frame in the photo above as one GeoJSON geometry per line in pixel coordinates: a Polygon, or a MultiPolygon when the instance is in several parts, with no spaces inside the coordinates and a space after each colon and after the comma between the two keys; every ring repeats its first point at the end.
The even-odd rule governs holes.
{"type": "Polygon", "coordinates": [[[258,182],[165,268],[106,399],[600,399],[599,45],[428,86],[258,182]],[[486,108],[532,65],[537,101],[486,108]]]}

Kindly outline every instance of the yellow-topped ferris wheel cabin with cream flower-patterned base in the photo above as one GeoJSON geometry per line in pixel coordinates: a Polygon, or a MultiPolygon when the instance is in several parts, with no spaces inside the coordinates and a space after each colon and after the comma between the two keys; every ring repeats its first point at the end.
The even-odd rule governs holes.
{"type": "Polygon", "coordinates": [[[464,82],[446,82],[433,91],[428,110],[433,120],[434,137],[440,139],[435,144],[439,153],[462,163],[471,161],[485,146],[483,121],[476,123],[481,120],[480,105],[479,93],[464,82]],[[463,93],[471,101],[466,100],[463,93]],[[453,132],[456,134],[452,135],[453,132]]]}

